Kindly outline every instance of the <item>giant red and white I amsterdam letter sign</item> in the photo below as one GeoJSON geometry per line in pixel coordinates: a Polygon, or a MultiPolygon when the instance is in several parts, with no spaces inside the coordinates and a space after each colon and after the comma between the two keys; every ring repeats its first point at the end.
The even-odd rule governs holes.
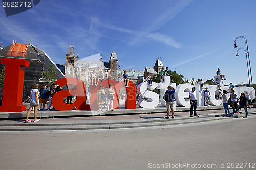
{"type": "MultiPolygon", "coordinates": [[[[2,106],[0,106],[0,112],[22,112],[26,110],[26,105],[22,105],[23,83],[24,83],[24,70],[25,67],[29,67],[29,62],[22,59],[2,58],[1,64],[5,64],[5,81],[3,91],[2,106]]],[[[175,99],[178,106],[190,106],[189,92],[192,87],[196,87],[197,105],[204,106],[204,90],[200,88],[200,85],[180,84],[176,87],[176,83],[170,83],[169,76],[166,76],[165,82],[155,83],[153,86],[149,86],[148,82],[142,82],[137,87],[137,93],[140,96],[148,98],[148,101],[141,99],[137,102],[137,105],[142,108],[155,108],[159,104],[159,96],[157,93],[150,91],[154,89],[160,89],[160,102],[163,107],[166,107],[163,96],[168,86],[173,86],[175,91],[175,99]],[[148,90],[150,89],[150,90],[148,90]]],[[[97,110],[97,95],[96,91],[98,86],[91,88],[90,105],[86,104],[86,86],[83,81],[77,78],[62,78],[56,81],[59,86],[65,86],[67,84],[73,84],[76,86],[76,90],[63,90],[57,92],[52,98],[52,105],[57,110],[97,110]],[[66,104],[63,99],[67,96],[77,96],[76,101],[72,104],[66,104]]],[[[230,91],[229,86],[224,86],[223,81],[221,87],[224,90],[230,91]]],[[[104,80],[100,83],[103,87],[109,87],[109,84],[113,85],[115,90],[115,96],[113,101],[113,109],[119,109],[119,90],[125,88],[124,81],[117,83],[114,80],[104,80]]],[[[222,100],[215,99],[215,94],[218,93],[217,85],[204,85],[208,87],[211,96],[211,105],[221,105],[222,100]]],[[[133,82],[129,81],[129,87],[125,88],[125,109],[136,109],[136,88],[133,82]]],[[[248,91],[251,98],[255,97],[255,90],[253,87],[236,87],[234,88],[238,96],[242,92],[248,91]]]]}

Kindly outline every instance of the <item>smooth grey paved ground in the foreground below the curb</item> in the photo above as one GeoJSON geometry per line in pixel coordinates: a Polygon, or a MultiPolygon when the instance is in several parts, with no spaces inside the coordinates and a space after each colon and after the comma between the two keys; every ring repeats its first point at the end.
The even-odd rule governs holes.
{"type": "MultiPolygon", "coordinates": [[[[203,111],[199,113],[202,114],[203,111]]],[[[122,119],[127,117],[138,118],[137,115],[121,116],[122,119]]],[[[40,122],[44,121],[56,119],[42,119],[40,122]]],[[[252,166],[256,162],[255,129],[256,116],[251,115],[247,119],[232,118],[146,130],[1,133],[0,164],[1,169],[165,169],[154,168],[161,165],[179,169],[172,166],[181,164],[184,166],[180,169],[228,169],[230,163],[242,163],[243,167],[247,163],[240,169],[253,169],[248,164],[252,166]],[[189,168],[189,165],[197,168],[189,168]]]]}

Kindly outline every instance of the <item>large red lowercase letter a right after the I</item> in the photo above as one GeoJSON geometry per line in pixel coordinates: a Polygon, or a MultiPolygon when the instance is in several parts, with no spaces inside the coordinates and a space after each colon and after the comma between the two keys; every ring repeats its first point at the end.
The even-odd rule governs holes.
{"type": "Polygon", "coordinates": [[[76,90],[63,90],[53,95],[52,105],[57,110],[71,110],[76,107],[76,110],[90,110],[90,105],[86,105],[86,87],[83,81],[77,78],[62,78],[56,81],[56,83],[62,87],[67,84],[73,84],[76,86],[76,90]],[[66,104],[63,99],[67,96],[75,95],[76,101],[72,104],[66,104]]]}

